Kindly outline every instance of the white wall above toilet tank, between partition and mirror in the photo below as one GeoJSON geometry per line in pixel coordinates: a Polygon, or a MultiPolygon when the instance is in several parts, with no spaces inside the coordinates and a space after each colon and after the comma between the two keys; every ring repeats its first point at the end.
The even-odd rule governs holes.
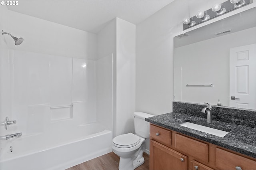
{"type": "Polygon", "coordinates": [[[153,115],[172,111],[172,38],[182,29],[177,28],[186,12],[182,2],[170,3],[136,26],[136,111],[153,115]]]}

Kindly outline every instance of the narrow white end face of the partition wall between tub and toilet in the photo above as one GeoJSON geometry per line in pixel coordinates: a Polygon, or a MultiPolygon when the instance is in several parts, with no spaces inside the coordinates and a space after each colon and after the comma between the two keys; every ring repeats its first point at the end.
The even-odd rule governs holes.
{"type": "Polygon", "coordinates": [[[135,31],[134,24],[116,18],[116,135],[134,132],[135,31]]]}

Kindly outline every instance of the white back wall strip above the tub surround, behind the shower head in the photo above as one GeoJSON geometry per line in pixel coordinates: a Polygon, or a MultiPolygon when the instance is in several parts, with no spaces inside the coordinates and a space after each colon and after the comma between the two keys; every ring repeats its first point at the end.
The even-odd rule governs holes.
{"type": "Polygon", "coordinates": [[[16,46],[10,36],[1,35],[8,48],[64,57],[96,58],[96,34],[13,12],[2,5],[0,10],[1,30],[24,38],[24,42],[16,46]]]}

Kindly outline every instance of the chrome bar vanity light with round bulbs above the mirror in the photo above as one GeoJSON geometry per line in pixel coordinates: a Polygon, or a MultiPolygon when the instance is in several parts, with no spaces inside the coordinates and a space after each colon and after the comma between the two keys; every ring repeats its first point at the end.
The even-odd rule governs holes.
{"type": "Polygon", "coordinates": [[[222,4],[214,4],[211,9],[206,11],[198,11],[196,16],[183,20],[183,30],[206,22],[212,18],[225,14],[232,10],[236,10],[242,6],[252,3],[252,0],[227,0],[222,4]]]}

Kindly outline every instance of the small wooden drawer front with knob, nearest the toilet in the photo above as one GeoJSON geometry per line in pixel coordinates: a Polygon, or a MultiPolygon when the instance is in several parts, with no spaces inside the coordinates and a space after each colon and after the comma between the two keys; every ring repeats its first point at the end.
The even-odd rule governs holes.
{"type": "Polygon", "coordinates": [[[172,132],[154,125],[150,125],[150,138],[159,143],[171,146],[172,132]]]}

